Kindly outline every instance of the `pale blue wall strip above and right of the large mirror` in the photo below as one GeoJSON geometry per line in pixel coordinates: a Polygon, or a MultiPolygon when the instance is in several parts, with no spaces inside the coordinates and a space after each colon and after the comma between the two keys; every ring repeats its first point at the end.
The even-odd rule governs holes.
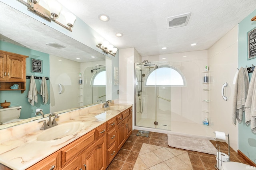
{"type": "MultiPolygon", "coordinates": [[[[99,33],[97,33],[94,29],[92,29],[89,25],[87,25],[85,22],[80,20],[80,18],[76,17],[76,21],[74,23],[74,27],[72,28],[72,32],[68,31],[67,29],[60,27],[60,25],[54,23],[54,22],[48,22],[39,16],[33,14],[32,12],[29,12],[22,3],[18,2],[17,0],[1,0],[1,2],[11,6],[12,8],[15,8],[16,10],[42,22],[46,25],[52,27],[53,29],[56,29],[60,31],[61,33],[64,33],[65,35],[68,35],[69,37],[79,41],[80,43],[83,43],[84,45],[87,45],[88,47],[106,55],[102,52],[98,47],[96,47],[97,39],[100,36],[99,33]]],[[[65,11],[68,11],[65,9],[65,11]]],[[[96,17],[98,18],[98,16],[96,17]]],[[[115,35],[113,35],[115,36],[115,35]]],[[[110,42],[110,44],[113,44],[114,42],[110,42]]],[[[114,45],[114,44],[113,44],[114,45]]],[[[114,84],[114,67],[118,67],[119,65],[119,51],[116,53],[116,57],[113,57],[112,55],[107,55],[112,59],[112,82],[114,84]]],[[[119,89],[119,85],[113,85],[112,86],[112,100],[118,99],[119,96],[117,95],[117,90],[119,89]]]]}

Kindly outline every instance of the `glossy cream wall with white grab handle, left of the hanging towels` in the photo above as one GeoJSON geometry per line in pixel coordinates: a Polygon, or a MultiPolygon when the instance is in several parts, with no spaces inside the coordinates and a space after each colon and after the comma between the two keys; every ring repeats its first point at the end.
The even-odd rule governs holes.
{"type": "Polygon", "coordinates": [[[238,66],[238,25],[208,49],[208,65],[213,83],[210,88],[211,125],[214,131],[230,134],[230,146],[238,149],[238,125],[231,123],[232,100],[234,94],[233,79],[238,66]],[[228,82],[221,96],[222,85],[228,82]]]}

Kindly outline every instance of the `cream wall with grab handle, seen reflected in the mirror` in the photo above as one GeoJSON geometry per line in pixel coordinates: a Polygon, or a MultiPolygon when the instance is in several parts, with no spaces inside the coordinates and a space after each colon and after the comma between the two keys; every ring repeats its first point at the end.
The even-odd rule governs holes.
{"type": "Polygon", "coordinates": [[[80,63],[50,55],[50,113],[78,106],[79,72],[80,63]]]}

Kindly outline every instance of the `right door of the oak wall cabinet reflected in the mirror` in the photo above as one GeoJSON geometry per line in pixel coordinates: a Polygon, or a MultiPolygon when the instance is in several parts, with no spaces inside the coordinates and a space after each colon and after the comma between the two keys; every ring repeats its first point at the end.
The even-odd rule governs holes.
{"type": "Polygon", "coordinates": [[[26,81],[26,59],[14,55],[7,55],[6,71],[8,81],[26,81]]]}

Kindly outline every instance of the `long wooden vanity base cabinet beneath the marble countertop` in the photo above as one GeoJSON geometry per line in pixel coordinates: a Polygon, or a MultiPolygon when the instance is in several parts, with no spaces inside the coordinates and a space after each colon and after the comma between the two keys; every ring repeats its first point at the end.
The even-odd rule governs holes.
{"type": "Polygon", "coordinates": [[[131,134],[132,107],[27,170],[105,170],[131,134]]]}

